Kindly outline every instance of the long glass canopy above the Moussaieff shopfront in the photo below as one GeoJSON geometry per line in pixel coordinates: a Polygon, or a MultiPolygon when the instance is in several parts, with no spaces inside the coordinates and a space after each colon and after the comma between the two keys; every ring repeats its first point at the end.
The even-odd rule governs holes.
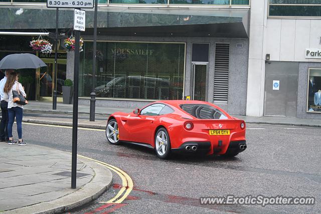
{"type": "MultiPolygon", "coordinates": [[[[1,8],[0,31],[55,29],[56,11],[39,9],[1,8]]],[[[82,34],[92,34],[93,17],[93,11],[87,10],[86,32],[82,34]]],[[[100,35],[248,38],[248,19],[249,9],[108,7],[99,8],[97,26],[100,35]]],[[[60,9],[59,28],[72,27],[73,10],[60,9]]]]}

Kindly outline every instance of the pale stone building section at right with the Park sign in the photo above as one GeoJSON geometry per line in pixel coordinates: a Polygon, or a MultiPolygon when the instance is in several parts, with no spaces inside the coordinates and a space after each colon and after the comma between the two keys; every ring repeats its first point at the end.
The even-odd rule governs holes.
{"type": "Polygon", "coordinates": [[[252,1],[247,115],[321,118],[320,9],[320,1],[252,1]]]}

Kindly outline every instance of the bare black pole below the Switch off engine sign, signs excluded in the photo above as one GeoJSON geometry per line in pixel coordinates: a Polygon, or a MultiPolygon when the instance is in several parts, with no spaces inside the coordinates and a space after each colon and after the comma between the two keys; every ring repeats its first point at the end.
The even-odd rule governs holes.
{"type": "Polygon", "coordinates": [[[75,30],[74,103],[73,103],[73,116],[72,116],[72,159],[71,159],[71,188],[73,189],[76,188],[76,175],[77,175],[79,40],[80,40],[80,31],[75,30]]]}

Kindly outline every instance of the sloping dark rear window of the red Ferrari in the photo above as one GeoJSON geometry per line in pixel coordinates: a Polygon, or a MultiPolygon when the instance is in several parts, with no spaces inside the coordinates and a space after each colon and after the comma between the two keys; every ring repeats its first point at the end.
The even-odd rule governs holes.
{"type": "Polygon", "coordinates": [[[227,116],[214,108],[213,106],[206,104],[181,104],[181,109],[186,113],[198,118],[198,119],[227,119],[227,116]]]}

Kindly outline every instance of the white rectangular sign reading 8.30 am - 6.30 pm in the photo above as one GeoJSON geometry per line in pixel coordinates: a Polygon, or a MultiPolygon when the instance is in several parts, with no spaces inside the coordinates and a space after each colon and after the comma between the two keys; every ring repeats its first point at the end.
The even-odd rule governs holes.
{"type": "Polygon", "coordinates": [[[94,8],[94,0],[47,0],[47,8],[94,8]]]}

